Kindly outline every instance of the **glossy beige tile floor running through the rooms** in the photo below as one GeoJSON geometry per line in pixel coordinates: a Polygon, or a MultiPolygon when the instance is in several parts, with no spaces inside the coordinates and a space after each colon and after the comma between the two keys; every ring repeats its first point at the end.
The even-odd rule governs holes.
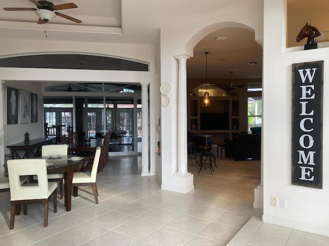
{"type": "Polygon", "coordinates": [[[79,189],[70,212],[63,200],[57,213],[50,204],[46,228],[42,206],[29,204],[9,230],[10,197],[0,193],[0,245],[329,245],[327,237],[261,222],[252,206],[260,161],[217,159],[213,175],[193,164],[195,189],[180,194],[141,177],[140,156],[110,156],[97,178],[99,204],[90,188],[79,189]]]}

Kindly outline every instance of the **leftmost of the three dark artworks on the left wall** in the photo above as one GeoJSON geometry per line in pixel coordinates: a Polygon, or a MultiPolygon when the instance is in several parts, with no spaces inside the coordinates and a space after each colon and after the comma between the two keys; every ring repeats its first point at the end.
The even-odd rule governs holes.
{"type": "Polygon", "coordinates": [[[7,87],[7,124],[19,123],[19,90],[7,87]]]}

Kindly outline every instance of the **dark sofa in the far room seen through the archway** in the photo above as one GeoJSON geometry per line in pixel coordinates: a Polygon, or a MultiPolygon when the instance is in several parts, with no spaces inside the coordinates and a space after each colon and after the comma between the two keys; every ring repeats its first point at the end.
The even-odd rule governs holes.
{"type": "Polygon", "coordinates": [[[226,139],[228,156],[234,160],[261,159],[261,134],[239,134],[233,140],[226,139]]]}

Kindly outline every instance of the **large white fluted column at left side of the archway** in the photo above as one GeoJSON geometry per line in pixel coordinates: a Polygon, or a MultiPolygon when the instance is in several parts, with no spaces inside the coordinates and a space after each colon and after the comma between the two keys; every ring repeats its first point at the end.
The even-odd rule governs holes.
{"type": "Polygon", "coordinates": [[[178,59],[178,167],[174,175],[186,177],[187,171],[187,73],[186,61],[190,56],[175,56],[178,59]]]}

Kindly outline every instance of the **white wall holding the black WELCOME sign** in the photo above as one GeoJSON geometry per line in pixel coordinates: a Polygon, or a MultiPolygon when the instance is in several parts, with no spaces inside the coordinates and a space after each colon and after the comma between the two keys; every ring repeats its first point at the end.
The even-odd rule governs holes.
{"type": "Polygon", "coordinates": [[[263,221],[329,236],[329,48],[285,48],[285,2],[264,1],[263,221]],[[324,60],[323,189],[291,185],[291,65],[317,60],[324,60]],[[271,196],[286,199],[287,208],[271,207],[271,196]]]}

